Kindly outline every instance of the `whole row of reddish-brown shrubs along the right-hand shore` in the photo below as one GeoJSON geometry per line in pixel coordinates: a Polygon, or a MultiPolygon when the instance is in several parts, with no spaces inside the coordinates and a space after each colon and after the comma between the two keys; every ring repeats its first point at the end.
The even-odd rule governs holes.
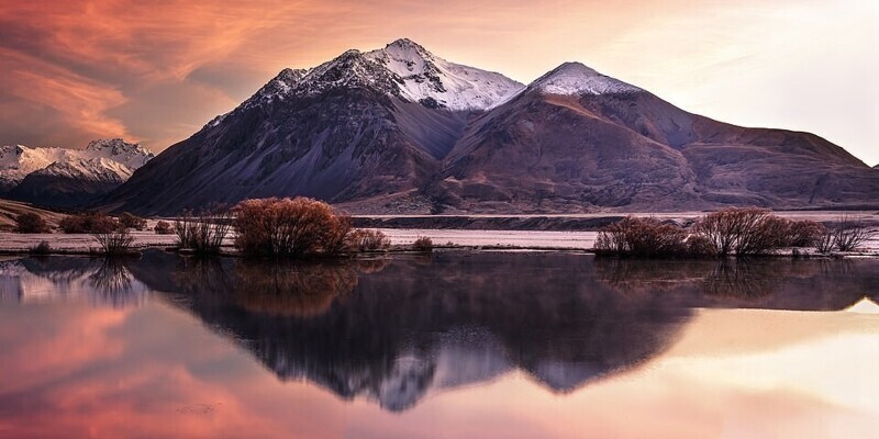
{"type": "Polygon", "coordinates": [[[872,236],[861,222],[848,216],[825,226],[782,218],[764,209],[731,207],[708,214],[689,228],[630,216],[603,227],[594,251],[598,256],[706,258],[809,247],[828,254],[855,250],[872,236]]]}

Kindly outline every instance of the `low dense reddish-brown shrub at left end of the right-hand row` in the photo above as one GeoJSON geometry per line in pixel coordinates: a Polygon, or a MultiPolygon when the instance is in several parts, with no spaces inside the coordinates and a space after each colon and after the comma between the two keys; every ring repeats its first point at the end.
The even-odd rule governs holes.
{"type": "Polygon", "coordinates": [[[676,225],[630,216],[601,229],[596,254],[637,258],[686,256],[686,239],[687,233],[676,225]]]}

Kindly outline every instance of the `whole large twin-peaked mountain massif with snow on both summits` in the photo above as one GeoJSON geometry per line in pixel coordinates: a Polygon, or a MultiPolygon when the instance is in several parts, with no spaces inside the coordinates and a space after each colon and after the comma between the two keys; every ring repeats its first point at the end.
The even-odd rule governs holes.
{"type": "Polygon", "coordinates": [[[305,195],[354,213],[879,205],[815,135],[688,113],[566,63],[527,87],[409,40],[285,69],[100,201],[173,214],[305,195]]]}

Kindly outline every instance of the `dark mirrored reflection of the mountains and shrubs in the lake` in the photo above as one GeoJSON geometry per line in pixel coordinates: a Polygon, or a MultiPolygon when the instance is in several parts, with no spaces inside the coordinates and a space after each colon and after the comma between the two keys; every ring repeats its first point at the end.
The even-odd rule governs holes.
{"type": "Polygon", "coordinates": [[[842,309],[879,291],[874,261],[637,261],[437,252],[267,263],[151,251],[137,260],[0,262],[5,300],[159,294],[282,380],[404,410],[522,370],[556,393],[643,364],[696,307],[842,309]],[[53,293],[54,292],[54,293],[53,293]]]}

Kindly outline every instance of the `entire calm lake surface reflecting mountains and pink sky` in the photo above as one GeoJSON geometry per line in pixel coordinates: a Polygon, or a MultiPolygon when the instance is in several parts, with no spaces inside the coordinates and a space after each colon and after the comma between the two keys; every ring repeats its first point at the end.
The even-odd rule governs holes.
{"type": "Polygon", "coordinates": [[[855,438],[879,260],[0,260],[0,437],[855,438]]]}

